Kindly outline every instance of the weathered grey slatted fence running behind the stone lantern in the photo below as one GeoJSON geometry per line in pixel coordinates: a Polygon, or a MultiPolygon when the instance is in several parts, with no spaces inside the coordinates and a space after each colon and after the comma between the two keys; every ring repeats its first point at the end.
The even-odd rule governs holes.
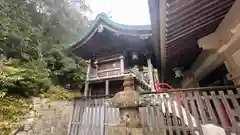
{"type": "MultiPolygon", "coordinates": [[[[173,89],[141,93],[140,107],[146,135],[203,135],[202,125],[214,124],[227,135],[240,134],[240,86],[173,89]],[[181,94],[180,94],[181,93],[181,94]]],[[[112,95],[74,99],[68,135],[108,135],[120,122],[119,109],[108,106],[112,95]]]]}

